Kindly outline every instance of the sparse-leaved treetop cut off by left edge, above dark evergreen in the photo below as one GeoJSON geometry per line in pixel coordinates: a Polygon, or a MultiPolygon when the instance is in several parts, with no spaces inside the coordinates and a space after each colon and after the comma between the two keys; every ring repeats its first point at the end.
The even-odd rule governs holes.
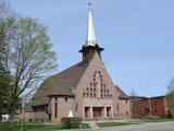
{"type": "Polygon", "coordinates": [[[0,0],[0,71],[9,70],[10,43],[13,40],[16,14],[0,0]]]}

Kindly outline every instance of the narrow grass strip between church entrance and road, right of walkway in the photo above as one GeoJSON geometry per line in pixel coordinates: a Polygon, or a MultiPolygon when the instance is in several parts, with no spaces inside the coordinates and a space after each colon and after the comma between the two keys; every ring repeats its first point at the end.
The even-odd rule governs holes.
{"type": "Polygon", "coordinates": [[[98,122],[97,123],[97,126],[100,127],[100,128],[129,126],[129,124],[140,124],[140,123],[138,123],[138,122],[98,122]]]}

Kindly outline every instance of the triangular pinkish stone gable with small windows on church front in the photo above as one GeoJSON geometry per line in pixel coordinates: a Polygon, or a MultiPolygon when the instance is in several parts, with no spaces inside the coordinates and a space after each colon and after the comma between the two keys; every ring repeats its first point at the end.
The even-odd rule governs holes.
{"type": "Polygon", "coordinates": [[[114,84],[98,53],[96,53],[89,62],[89,66],[77,86],[77,93],[78,92],[82,93],[79,94],[82,97],[119,97],[114,84]]]}

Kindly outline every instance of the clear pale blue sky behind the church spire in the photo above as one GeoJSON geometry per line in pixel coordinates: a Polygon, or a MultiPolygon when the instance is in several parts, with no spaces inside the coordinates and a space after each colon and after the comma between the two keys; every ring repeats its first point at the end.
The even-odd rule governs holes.
{"type": "MultiPolygon", "coordinates": [[[[58,71],[82,59],[88,0],[7,0],[48,27],[58,71]]],[[[113,82],[127,94],[158,96],[174,78],[174,0],[90,0],[97,40],[113,82]]]]}

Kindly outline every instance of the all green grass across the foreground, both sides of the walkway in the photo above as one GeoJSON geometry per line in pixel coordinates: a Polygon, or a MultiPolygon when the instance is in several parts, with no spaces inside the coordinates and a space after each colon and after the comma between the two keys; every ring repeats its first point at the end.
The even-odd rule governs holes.
{"type": "MultiPolygon", "coordinates": [[[[119,126],[129,126],[129,124],[141,124],[145,122],[165,122],[165,121],[174,121],[174,119],[162,119],[162,118],[148,118],[148,119],[140,119],[129,122],[97,122],[99,128],[107,128],[107,127],[119,127],[119,126]]],[[[89,129],[88,123],[80,123],[80,129],[89,129]]],[[[21,123],[15,122],[14,131],[20,131],[21,123]]],[[[52,131],[52,130],[63,130],[64,128],[61,124],[44,124],[40,122],[37,123],[24,123],[23,131],[52,131]]],[[[0,131],[9,131],[9,123],[8,122],[0,122],[0,131]]]]}

